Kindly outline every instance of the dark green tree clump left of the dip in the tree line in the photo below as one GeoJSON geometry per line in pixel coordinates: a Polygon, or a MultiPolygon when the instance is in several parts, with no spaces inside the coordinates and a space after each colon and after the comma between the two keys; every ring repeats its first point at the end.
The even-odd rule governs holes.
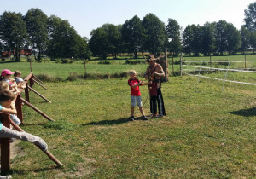
{"type": "Polygon", "coordinates": [[[11,51],[20,61],[20,50],[32,49],[36,60],[47,55],[56,58],[90,58],[87,38],[82,38],[67,20],[40,9],[30,9],[26,15],[4,12],[0,16],[0,51],[11,51]]]}

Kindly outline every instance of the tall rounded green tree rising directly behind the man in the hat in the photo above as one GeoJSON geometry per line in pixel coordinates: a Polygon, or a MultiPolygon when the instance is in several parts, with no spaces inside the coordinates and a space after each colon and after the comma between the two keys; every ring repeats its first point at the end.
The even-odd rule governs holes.
{"type": "Polygon", "coordinates": [[[166,30],[164,22],[154,14],[148,14],[143,18],[144,48],[154,55],[164,49],[166,42],[166,30]]]}

